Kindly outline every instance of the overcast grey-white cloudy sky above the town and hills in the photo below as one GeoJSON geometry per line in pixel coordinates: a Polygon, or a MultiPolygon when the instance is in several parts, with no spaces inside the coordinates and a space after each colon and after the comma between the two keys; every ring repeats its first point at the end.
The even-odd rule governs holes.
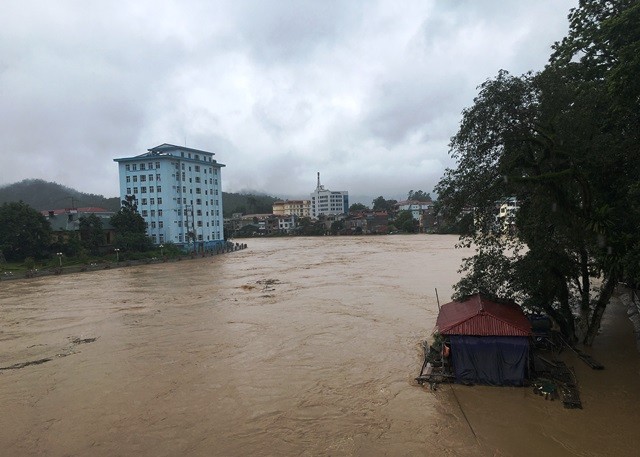
{"type": "Polygon", "coordinates": [[[541,70],[577,3],[4,0],[0,185],[113,197],[114,158],[173,143],[226,192],[431,192],[477,86],[541,70]]]}

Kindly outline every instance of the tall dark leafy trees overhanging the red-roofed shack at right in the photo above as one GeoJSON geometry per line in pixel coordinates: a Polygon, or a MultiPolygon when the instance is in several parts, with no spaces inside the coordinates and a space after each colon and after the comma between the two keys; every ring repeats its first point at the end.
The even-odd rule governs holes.
{"type": "Polygon", "coordinates": [[[639,12],[583,0],[543,71],[482,84],[436,186],[451,219],[473,208],[458,293],[519,299],[587,344],[617,282],[638,274],[639,12]],[[512,197],[515,218],[497,217],[512,197]]]}

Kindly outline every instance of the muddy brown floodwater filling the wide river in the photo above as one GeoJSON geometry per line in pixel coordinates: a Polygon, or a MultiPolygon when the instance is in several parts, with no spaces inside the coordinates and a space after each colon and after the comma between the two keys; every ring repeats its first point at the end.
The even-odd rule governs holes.
{"type": "Polygon", "coordinates": [[[451,236],[248,240],[198,260],[0,283],[0,455],[632,456],[640,358],[615,300],[571,353],[584,409],[413,378],[451,236]]]}

